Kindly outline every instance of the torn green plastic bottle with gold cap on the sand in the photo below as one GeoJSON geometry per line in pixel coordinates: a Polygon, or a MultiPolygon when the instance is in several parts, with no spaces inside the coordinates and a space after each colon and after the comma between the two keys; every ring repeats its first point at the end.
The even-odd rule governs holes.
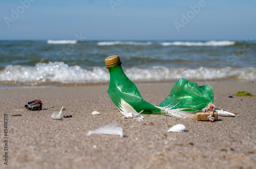
{"type": "Polygon", "coordinates": [[[136,85],[125,75],[118,55],[105,59],[110,72],[108,94],[113,103],[120,108],[121,99],[129,103],[137,112],[144,110],[147,114],[161,114],[163,108],[186,108],[186,111],[197,111],[213,102],[214,93],[210,86],[198,87],[197,83],[184,78],[179,79],[168,97],[160,104],[153,105],[142,99],[136,85]]]}

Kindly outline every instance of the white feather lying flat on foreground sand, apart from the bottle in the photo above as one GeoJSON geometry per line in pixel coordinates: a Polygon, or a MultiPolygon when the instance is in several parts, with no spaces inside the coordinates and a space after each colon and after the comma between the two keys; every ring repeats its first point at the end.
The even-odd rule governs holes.
{"type": "Polygon", "coordinates": [[[98,128],[94,131],[88,131],[87,136],[92,134],[108,134],[108,135],[120,135],[123,136],[123,129],[117,126],[117,123],[111,123],[109,125],[98,128]]]}

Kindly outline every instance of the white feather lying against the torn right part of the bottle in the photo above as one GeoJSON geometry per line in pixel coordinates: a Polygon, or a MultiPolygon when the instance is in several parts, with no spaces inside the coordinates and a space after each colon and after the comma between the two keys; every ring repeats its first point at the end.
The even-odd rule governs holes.
{"type": "MultiPolygon", "coordinates": [[[[179,103],[177,103],[177,104],[179,104],[179,103]]],[[[195,114],[193,114],[189,111],[182,111],[182,110],[185,110],[185,109],[188,109],[188,108],[172,109],[176,105],[174,105],[172,107],[168,107],[169,105],[167,105],[165,107],[159,107],[159,106],[156,106],[156,107],[160,108],[162,110],[162,112],[164,112],[165,114],[170,115],[170,116],[175,116],[175,117],[178,117],[178,118],[195,118],[196,117],[195,114]]]]}

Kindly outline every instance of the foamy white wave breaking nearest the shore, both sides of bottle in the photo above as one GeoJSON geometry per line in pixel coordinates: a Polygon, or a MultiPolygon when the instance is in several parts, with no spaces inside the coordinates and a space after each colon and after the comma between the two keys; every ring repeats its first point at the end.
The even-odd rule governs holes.
{"type": "MultiPolygon", "coordinates": [[[[167,68],[153,66],[149,68],[132,67],[125,69],[126,75],[133,81],[175,81],[179,78],[189,80],[256,80],[256,68],[167,68]]],[[[89,83],[108,82],[109,72],[106,68],[93,67],[82,69],[68,66],[63,62],[37,63],[35,66],[8,65],[0,71],[0,81],[16,82],[61,82],[89,83]]]]}

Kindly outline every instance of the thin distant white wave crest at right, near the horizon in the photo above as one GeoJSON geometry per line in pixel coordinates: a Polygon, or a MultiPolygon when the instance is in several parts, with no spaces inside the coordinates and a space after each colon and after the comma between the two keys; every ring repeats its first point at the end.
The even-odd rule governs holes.
{"type": "Polygon", "coordinates": [[[208,42],[162,42],[163,46],[229,46],[234,45],[235,41],[208,41],[208,42]]]}

